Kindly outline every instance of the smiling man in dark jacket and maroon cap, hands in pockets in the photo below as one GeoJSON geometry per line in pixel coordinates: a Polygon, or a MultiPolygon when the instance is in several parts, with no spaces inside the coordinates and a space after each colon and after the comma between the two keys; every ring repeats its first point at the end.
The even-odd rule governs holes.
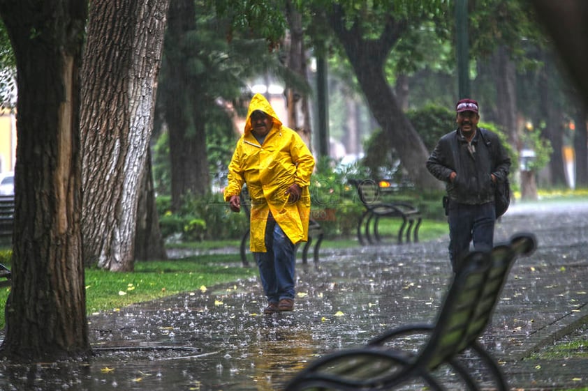
{"type": "Polygon", "coordinates": [[[498,181],[506,181],[510,158],[496,134],[478,128],[476,100],[460,100],[455,111],[457,130],[439,139],[427,169],[446,183],[449,258],[457,273],[472,240],[475,250],[492,250],[494,190],[498,181]]]}

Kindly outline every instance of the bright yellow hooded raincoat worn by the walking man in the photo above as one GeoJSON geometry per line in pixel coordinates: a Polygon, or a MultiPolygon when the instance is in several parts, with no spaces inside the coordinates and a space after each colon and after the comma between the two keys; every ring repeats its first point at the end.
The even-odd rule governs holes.
{"type": "Polygon", "coordinates": [[[314,158],[300,136],[282,125],[270,102],[263,95],[251,99],[244,135],[237,141],[233,159],[228,166],[225,201],[241,192],[247,183],[251,197],[250,244],[252,252],[266,252],[265,224],[270,211],[286,236],[296,244],[308,240],[310,217],[310,176],[314,158]],[[260,145],[251,134],[250,116],[261,110],[273,118],[273,128],[260,145]],[[302,195],[295,203],[288,202],[286,190],[297,183],[302,195]]]}

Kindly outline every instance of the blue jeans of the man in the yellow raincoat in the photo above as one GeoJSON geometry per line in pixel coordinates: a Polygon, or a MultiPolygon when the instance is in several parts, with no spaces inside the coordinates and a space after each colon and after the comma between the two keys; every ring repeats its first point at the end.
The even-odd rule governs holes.
{"type": "Polygon", "coordinates": [[[279,302],[284,298],[293,299],[295,246],[284,231],[270,216],[265,227],[265,248],[267,252],[254,252],[261,286],[268,302],[279,302]]]}

